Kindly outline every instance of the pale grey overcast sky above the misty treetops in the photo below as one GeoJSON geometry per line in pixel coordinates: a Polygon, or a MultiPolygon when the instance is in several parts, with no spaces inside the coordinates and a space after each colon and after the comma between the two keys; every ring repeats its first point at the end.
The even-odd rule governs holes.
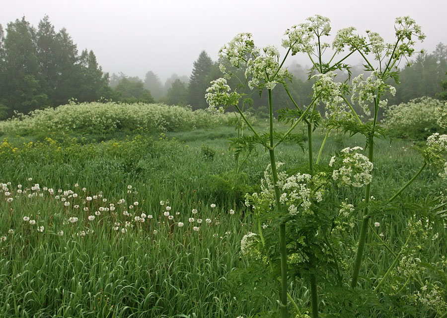
{"type": "Polygon", "coordinates": [[[394,18],[409,15],[427,35],[417,49],[432,52],[447,44],[446,12],[444,0],[1,0],[0,24],[6,28],[25,16],[37,27],[47,14],[56,30],[67,29],[79,52],[93,50],[103,71],[143,79],[152,71],[164,81],[173,73],[189,76],[202,50],[217,60],[239,32],[251,32],[256,46],[280,47],[287,28],[314,14],[330,18],[333,35],[355,26],[388,42],[394,18]]]}

